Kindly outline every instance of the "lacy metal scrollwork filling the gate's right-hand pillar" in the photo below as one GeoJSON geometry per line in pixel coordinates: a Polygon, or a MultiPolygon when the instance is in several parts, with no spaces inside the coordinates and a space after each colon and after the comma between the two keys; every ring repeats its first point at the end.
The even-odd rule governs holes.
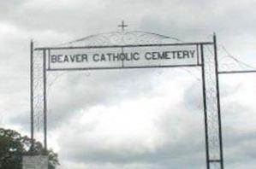
{"type": "MultiPolygon", "coordinates": [[[[211,46],[212,47],[212,46],[211,46]]],[[[213,49],[209,46],[204,47],[205,65],[205,100],[208,126],[208,148],[210,160],[220,160],[220,138],[218,121],[217,103],[217,76],[216,63],[213,49]]],[[[220,163],[211,164],[211,168],[221,168],[220,163]]]]}

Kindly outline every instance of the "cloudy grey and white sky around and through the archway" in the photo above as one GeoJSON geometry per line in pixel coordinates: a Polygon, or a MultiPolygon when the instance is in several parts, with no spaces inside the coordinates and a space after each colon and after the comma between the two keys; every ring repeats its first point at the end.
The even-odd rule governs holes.
{"type": "MultiPolygon", "coordinates": [[[[128,31],[184,42],[211,41],[216,32],[220,64],[252,69],[255,9],[254,0],[0,0],[0,126],[29,133],[32,38],[38,46],[62,44],[119,31],[121,20],[128,31]]],[[[199,68],[55,76],[48,93],[49,147],[60,156],[59,168],[205,168],[199,68]]],[[[226,168],[256,166],[255,84],[255,73],[220,76],[226,168]]]]}

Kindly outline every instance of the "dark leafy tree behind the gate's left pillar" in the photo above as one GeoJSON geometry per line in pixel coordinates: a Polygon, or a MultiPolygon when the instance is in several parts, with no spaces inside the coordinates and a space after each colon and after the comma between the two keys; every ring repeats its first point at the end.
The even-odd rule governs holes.
{"type": "Polygon", "coordinates": [[[49,169],[55,169],[59,165],[57,154],[52,149],[43,149],[42,143],[34,141],[34,149],[31,148],[31,139],[13,130],[0,128],[0,169],[21,169],[22,155],[49,155],[49,169]]]}

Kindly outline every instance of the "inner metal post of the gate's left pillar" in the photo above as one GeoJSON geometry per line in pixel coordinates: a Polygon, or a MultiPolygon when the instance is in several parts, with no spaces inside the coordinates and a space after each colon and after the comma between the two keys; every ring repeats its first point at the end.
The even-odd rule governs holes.
{"type": "Polygon", "coordinates": [[[47,152],[47,100],[46,100],[46,50],[43,50],[43,71],[44,71],[44,144],[47,152]]]}

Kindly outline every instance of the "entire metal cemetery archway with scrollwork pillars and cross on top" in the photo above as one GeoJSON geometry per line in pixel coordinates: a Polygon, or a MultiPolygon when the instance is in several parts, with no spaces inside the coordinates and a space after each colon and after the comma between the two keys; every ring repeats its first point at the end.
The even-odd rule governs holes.
{"type": "MultiPolygon", "coordinates": [[[[33,47],[31,43],[31,137],[44,119],[47,149],[48,73],[95,69],[147,67],[201,67],[205,114],[207,169],[223,169],[223,143],[218,87],[217,42],[181,43],[149,32],[110,32],[81,38],[54,47],[33,47]],[[213,53],[206,53],[211,48],[213,53]],[[41,118],[43,117],[43,118],[41,118]]],[[[32,143],[33,145],[33,143],[32,143]]],[[[32,146],[33,149],[33,146],[32,146]]]]}

